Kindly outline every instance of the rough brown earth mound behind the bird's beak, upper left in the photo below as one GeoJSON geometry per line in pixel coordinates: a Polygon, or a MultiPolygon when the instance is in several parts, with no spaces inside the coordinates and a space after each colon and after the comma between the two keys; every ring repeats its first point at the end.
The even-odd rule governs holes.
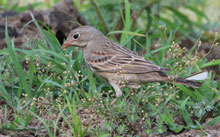
{"type": "Polygon", "coordinates": [[[5,11],[0,14],[0,49],[7,47],[5,43],[6,17],[9,37],[15,38],[17,48],[30,49],[31,47],[25,47],[27,45],[25,43],[31,43],[33,39],[40,39],[40,32],[35,24],[33,22],[27,24],[32,20],[31,13],[42,28],[46,29],[48,27],[52,30],[61,44],[71,30],[79,27],[78,24],[72,22],[78,22],[81,25],[86,24],[73,6],[72,1],[67,0],[62,0],[49,10],[34,11],[30,5],[29,11],[23,13],[5,11]]]}

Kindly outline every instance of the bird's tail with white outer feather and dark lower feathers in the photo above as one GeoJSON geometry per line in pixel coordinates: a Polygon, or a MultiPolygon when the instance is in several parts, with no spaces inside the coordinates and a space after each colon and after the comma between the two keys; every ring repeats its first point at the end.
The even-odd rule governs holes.
{"type": "Polygon", "coordinates": [[[204,71],[197,74],[193,74],[186,78],[177,78],[174,80],[175,81],[174,83],[187,85],[193,88],[198,88],[202,86],[202,83],[199,82],[198,80],[205,80],[207,78],[208,78],[208,72],[204,71]]]}

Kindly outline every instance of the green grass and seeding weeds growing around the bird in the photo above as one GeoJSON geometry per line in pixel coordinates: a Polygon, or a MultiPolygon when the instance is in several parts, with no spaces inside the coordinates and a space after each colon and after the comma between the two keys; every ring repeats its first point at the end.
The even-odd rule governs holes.
{"type": "MultiPolygon", "coordinates": [[[[198,53],[200,37],[187,52],[178,44],[178,31],[160,26],[153,15],[151,21],[157,27],[155,34],[145,35],[143,31],[136,31],[131,27],[130,4],[128,0],[124,1],[125,17],[121,14],[124,29],[109,32],[121,33],[122,45],[136,52],[146,49],[145,58],[169,68],[169,75],[173,77],[186,77],[206,67],[219,65],[219,60],[207,61],[195,54],[198,53]],[[160,38],[159,47],[151,50],[156,38],[160,38]]],[[[168,9],[182,22],[191,25],[182,13],[168,9]]],[[[209,72],[208,79],[197,89],[159,82],[141,85],[135,90],[125,87],[123,96],[115,105],[110,105],[115,97],[113,88],[84,65],[82,51],[74,47],[62,51],[54,34],[50,30],[42,30],[33,15],[32,21],[42,36],[40,40],[34,40],[34,47],[30,45],[32,50],[16,48],[13,39],[8,37],[5,23],[8,48],[0,51],[0,99],[5,102],[0,107],[5,117],[0,125],[2,130],[33,132],[39,136],[47,134],[50,137],[57,134],[102,137],[199,129],[203,136],[205,119],[213,118],[208,123],[210,126],[220,122],[220,84],[214,80],[214,72],[209,72]],[[24,64],[27,67],[24,68],[24,64]],[[87,124],[84,120],[88,121],[87,124]],[[33,126],[36,123],[41,124],[33,126]]],[[[155,29],[153,27],[150,30],[155,29]]],[[[184,36],[189,33],[184,29],[180,32],[184,36]]],[[[108,36],[114,39],[112,35],[108,36]]],[[[213,45],[217,45],[216,41],[213,45]]]]}

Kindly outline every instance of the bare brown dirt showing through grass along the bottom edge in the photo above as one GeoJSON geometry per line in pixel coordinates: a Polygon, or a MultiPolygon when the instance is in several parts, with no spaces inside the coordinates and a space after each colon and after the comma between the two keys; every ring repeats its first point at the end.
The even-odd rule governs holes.
{"type": "MultiPolygon", "coordinates": [[[[0,102],[0,105],[3,106],[4,102],[0,102]]],[[[56,119],[55,117],[50,116],[49,114],[45,114],[42,116],[43,119],[47,119],[48,121],[54,121],[56,119]]],[[[0,127],[1,125],[4,124],[5,122],[13,121],[13,111],[8,109],[8,114],[5,116],[5,110],[4,107],[0,108],[0,127]]],[[[82,121],[82,126],[88,126],[88,124],[91,124],[91,128],[101,128],[105,120],[100,118],[98,115],[91,113],[88,109],[83,109],[80,108],[78,109],[78,116],[80,117],[82,121]]],[[[71,118],[69,118],[71,119],[71,118]]],[[[210,121],[211,119],[207,120],[210,121]]],[[[71,134],[71,130],[68,128],[68,126],[63,126],[62,125],[63,119],[60,119],[58,122],[58,127],[59,130],[56,132],[56,136],[62,136],[62,137],[67,137],[68,135],[63,135],[65,131],[66,133],[71,134]]],[[[206,123],[207,123],[206,122],[206,123]]],[[[217,124],[216,126],[210,127],[207,126],[207,124],[204,124],[204,129],[203,129],[203,135],[204,137],[220,137],[220,123],[217,124]]],[[[0,137],[36,137],[36,136],[42,136],[42,137],[48,137],[48,132],[46,128],[42,128],[43,124],[37,119],[34,118],[30,124],[29,128],[32,129],[39,129],[39,130],[20,130],[20,131],[12,131],[12,130],[6,130],[6,129],[1,129],[0,128],[0,137]]],[[[179,134],[174,134],[170,131],[165,132],[163,134],[159,135],[146,135],[143,133],[142,137],[200,137],[202,136],[202,131],[201,130],[185,130],[179,134]]],[[[87,137],[90,137],[88,134],[87,137]]]]}

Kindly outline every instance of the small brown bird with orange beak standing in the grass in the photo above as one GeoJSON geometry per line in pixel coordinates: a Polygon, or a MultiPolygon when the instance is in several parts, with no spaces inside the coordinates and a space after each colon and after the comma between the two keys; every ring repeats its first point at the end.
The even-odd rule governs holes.
{"type": "Polygon", "coordinates": [[[167,71],[166,68],[157,66],[133,51],[114,43],[91,26],[82,26],[71,31],[62,49],[69,46],[82,48],[84,59],[90,69],[111,84],[117,97],[122,95],[120,88],[122,85],[134,87],[159,81],[200,87],[201,83],[195,80],[206,79],[208,74],[202,72],[186,79],[170,79],[164,73],[167,71]]]}

